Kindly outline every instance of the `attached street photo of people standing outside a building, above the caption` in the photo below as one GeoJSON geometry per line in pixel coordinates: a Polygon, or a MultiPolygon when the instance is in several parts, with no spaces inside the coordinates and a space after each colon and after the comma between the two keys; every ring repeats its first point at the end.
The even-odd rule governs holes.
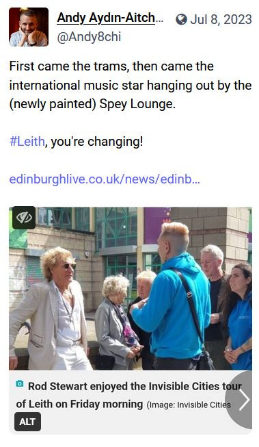
{"type": "Polygon", "coordinates": [[[252,369],[251,207],[16,208],[10,370],[252,369]]]}

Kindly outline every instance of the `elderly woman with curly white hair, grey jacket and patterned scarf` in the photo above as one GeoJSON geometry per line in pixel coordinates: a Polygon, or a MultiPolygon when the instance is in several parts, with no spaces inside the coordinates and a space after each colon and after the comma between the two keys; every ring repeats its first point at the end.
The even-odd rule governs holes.
{"type": "Polygon", "coordinates": [[[132,370],[133,359],[143,346],[131,329],[122,303],[126,297],[128,279],[121,274],[105,278],[103,303],[96,310],[95,327],[99,342],[96,369],[132,370]]]}

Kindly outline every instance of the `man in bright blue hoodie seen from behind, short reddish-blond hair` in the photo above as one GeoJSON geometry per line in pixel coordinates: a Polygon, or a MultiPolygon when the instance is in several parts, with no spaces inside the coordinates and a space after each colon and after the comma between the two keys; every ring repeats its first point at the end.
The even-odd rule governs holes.
{"type": "Polygon", "coordinates": [[[181,272],[191,292],[200,330],[210,323],[210,285],[195,259],[187,253],[189,229],[180,222],[164,223],[157,240],[161,257],[161,273],[154,279],[148,300],[131,307],[135,323],[152,332],[151,352],[154,370],[195,370],[202,352],[185,288],[178,275],[181,272]]]}

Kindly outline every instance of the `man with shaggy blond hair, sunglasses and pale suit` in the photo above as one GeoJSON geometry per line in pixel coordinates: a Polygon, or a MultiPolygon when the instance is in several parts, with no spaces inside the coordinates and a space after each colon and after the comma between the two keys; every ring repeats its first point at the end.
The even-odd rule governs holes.
{"type": "Polygon", "coordinates": [[[87,359],[87,333],[81,286],[74,281],[74,258],[61,247],[41,259],[46,281],[33,284],[21,304],[10,313],[9,368],[18,364],[16,335],[28,318],[29,370],[92,370],[87,359]]]}

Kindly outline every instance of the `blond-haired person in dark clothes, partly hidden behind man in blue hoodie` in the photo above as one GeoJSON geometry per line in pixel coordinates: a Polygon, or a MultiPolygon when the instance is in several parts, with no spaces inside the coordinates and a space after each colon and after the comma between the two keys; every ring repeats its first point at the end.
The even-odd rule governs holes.
{"type": "MultiPolygon", "coordinates": [[[[131,323],[133,331],[139,337],[139,343],[144,346],[141,350],[142,370],[152,370],[152,364],[154,361],[154,355],[150,353],[150,332],[146,332],[133,321],[131,316],[131,306],[139,303],[141,300],[147,300],[150,294],[152,283],[156,277],[156,274],[152,270],[144,270],[137,274],[137,298],[133,303],[128,306],[128,320],[131,323]]],[[[137,360],[137,359],[136,359],[137,360]]]]}

